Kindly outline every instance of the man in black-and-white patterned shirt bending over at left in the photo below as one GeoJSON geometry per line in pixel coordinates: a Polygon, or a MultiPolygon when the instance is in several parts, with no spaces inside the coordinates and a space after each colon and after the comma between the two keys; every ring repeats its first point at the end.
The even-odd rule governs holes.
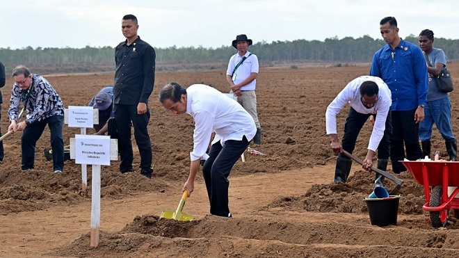
{"type": "MultiPolygon", "coordinates": [[[[35,145],[42,136],[46,125],[51,132],[54,172],[64,168],[64,104],[56,90],[47,79],[38,74],[31,74],[24,65],[13,69],[15,84],[11,91],[8,116],[11,124],[8,131],[22,131],[22,170],[33,169],[35,145]],[[22,102],[27,111],[26,119],[19,122],[19,104],[22,102]]],[[[25,112],[25,111],[24,111],[25,112]]]]}

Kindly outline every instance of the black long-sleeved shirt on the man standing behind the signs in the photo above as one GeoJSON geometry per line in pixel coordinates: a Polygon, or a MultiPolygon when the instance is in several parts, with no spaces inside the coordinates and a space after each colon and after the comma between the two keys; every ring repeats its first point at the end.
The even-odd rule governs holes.
{"type": "Polygon", "coordinates": [[[129,46],[125,40],[115,48],[113,103],[148,104],[154,87],[155,58],[153,47],[140,37],[129,46]]]}

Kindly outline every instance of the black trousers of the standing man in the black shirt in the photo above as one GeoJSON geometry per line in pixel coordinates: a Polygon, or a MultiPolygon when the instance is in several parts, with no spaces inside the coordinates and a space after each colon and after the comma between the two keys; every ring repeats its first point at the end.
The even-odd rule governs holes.
{"type": "Polygon", "coordinates": [[[137,105],[113,105],[113,113],[118,129],[118,153],[120,153],[120,171],[132,170],[134,154],[131,143],[131,124],[134,125],[134,138],[140,153],[140,168],[151,170],[152,167],[152,144],[148,135],[147,125],[150,120],[150,111],[138,115],[137,105]]]}

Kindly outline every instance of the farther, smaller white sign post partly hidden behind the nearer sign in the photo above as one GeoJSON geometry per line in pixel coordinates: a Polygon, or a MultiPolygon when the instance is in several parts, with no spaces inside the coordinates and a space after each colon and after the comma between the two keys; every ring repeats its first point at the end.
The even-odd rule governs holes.
{"type": "MultiPolygon", "coordinates": [[[[92,128],[99,124],[99,109],[92,106],[69,106],[64,110],[65,124],[69,127],[81,127],[80,134],[86,134],[86,127],[92,128]]],[[[88,187],[88,167],[81,164],[81,191],[86,192],[88,187]]]]}

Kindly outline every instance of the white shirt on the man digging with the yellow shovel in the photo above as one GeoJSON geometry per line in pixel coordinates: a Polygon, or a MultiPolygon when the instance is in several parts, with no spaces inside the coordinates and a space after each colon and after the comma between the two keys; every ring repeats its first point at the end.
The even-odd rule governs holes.
{"type": "Polygon", "coordinates": [[[216,133],[212,144],[222,145],[227,140],[252,140],[257,132],[253,118],[234,99],[204,84],[193,84],[186,89],[186,113],[195,121],[191,161],[207,159],[211,134],[216,133]]]}

